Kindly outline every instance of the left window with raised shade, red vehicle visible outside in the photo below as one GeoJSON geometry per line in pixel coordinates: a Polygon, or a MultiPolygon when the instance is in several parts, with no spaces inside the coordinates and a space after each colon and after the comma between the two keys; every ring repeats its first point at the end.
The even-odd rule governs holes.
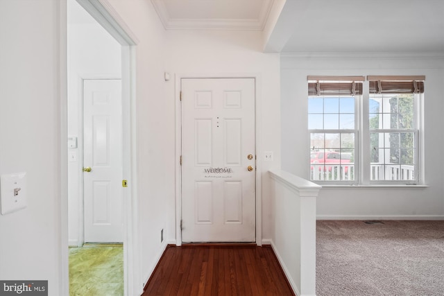
{"type": "Polygon", "coordinates": [[[310,179],[357,180],[359,77],[309,77],[310,179]]]}

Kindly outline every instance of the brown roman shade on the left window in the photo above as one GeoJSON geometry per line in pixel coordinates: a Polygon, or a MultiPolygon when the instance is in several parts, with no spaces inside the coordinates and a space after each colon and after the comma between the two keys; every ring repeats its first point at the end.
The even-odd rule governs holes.
{"type": "Polygon", "coordinates": [[[309,96],[362,94],[364,76],[307,76],[309,96]]]}

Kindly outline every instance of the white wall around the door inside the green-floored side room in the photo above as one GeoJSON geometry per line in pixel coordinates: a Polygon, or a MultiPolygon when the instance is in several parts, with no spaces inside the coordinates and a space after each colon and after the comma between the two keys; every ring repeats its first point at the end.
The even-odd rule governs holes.
{"type": "MultiPolygon", "coordinates": [[[[68,1],[68,135],[77,137],[77,161],[68,162],[69,245],[78,245],[83,211],[82,79],[121,78],[121,45],[75,0],[68,1]],[[82,22],[77,22],[77,21],[82,22]],[[80,216],[81,217],[81,216],[80,216]]],[[[80,241],[81,243],[81,241],[80,241]]]]}

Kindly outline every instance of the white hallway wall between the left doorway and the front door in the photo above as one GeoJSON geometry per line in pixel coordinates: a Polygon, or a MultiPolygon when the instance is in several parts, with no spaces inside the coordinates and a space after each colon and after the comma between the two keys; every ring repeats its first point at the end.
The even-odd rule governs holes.
{"type": "MultiPolygon", "coordinates": [[[[171,236],[167,221],[169,212],[174,210],[167,208],[174,188],[169,186],[173,171],[167,162],[173,157],[168,139],[173,134],[164,128],[173,122],[164,95],[165,33],[151,1],[107,2],[137,38],[134,60],[137,155],[133,155],[137,157],[137,204],[133,206],[138,211],[139,236],[134,243],[139,254],[133,255],[142,272],[141,279],[134,279],[135,288],[142,290],[166,246],[166,240],[160,242],[161,229],[165,229],[164,236],[171,236]]],[[[133,184],[133,180],[128,181],[133,184]]]]}

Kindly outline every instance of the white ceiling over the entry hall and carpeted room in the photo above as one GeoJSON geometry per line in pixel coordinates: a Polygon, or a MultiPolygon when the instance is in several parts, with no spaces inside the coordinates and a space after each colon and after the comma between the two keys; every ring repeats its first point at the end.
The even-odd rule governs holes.
{"type": "Polygon", "coordinates": [[[443,0],[151,1],[169,30],[263,31],[273,21],[265,51],[444,52],[443,0]]]}

